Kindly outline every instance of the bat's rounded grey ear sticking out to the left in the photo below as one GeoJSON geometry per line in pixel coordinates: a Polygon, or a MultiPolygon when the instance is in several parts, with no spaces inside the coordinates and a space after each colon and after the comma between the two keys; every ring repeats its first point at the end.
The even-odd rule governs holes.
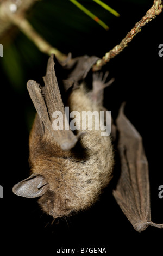
{"type": "Polygon", "coordinates": [[[17,196],[35,198],[40,197],[47,191],[48,183],[42,175],[32,174],[29,178],[17,183],[12,191],[17,196]]]}

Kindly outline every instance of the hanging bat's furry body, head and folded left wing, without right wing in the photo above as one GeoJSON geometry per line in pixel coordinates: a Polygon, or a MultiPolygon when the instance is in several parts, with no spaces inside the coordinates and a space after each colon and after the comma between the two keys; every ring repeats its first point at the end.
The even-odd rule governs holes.
{"type": "Polygon", "coordinates": [[[84,56],[73,59],[69,64],[65,62],[62,66],[58,63],[62,75],[63,69],[70,70],[67,78],[60,80],[59,89],[54,70],[57,60],[54,63],[52,55],[43,77],[45,86],[33,80],[27,83],[37,111],[29,136],[31,169],[30,176],[16,184],[13,192],[22,197],[38,197],[42,210],[54,219],[70,216],[91,206],[112,178],[114,151],[111,136],[101,136],[101,130],[96,130],[95,125],[92,130],[88,129],[88,125],[86,130],[78,129],[80,122],[77,118],[75,132],[64,126],[69,125],[64,106],[68,106],[71,113],[100,113],[102,110],[99,92],[107,85],[103,84],[105,78],[98,90],[95,81],[91,90],[86,89],[83,82],[80,84],[96,60],[97,57],[84,56]],[[67,95],[63,97],[65,103],[61,90],[67,95]],[[64,121],[64,129],[60,129],[60,126],[58,130],[53,129],[53,113],[56,112],[59,114],[58,123],[64,121]]]}

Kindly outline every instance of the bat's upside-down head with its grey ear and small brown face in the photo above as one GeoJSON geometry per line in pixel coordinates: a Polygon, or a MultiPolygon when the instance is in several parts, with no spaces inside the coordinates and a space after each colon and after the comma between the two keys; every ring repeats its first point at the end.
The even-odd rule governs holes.
{"type": "Polygon", "coordinates": [[[22,197],[38,197],[42,210],[54,218],[68,216],[74,208],[71,198],[66,195],[65,191],[62,193],[62,188],[59,189],[61,182],[57,181],[57,178],[55,184],[53,182],[52,185],[56,187],[56,190],[51,188],[51,182],[47,182],[42,175],[32,174],[29,178],[16,184],[13,187],[13,192],[22,197]]]}

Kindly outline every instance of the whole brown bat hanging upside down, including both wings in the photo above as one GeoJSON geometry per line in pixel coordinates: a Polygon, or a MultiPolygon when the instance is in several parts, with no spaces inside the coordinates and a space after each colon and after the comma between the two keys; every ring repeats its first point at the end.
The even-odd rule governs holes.
{"type": "MultiPolygon", "coordinates": [[[[92,88],[86,82],[96,57],[79,57],[71,64],[58,66],[68,70],[68,78],[60,81],[64,85],[67,99],[65,106],[70,111],[100,111],[103,107],[103,89],[106,75],[93,75],[92,88]]],[[[55,61],[57,62],[57,60],[55,61]]],[[[117,118],[117,127],[111,125],[110,136],[101,136],[101,130],[86,131],[53,130],[53,113],[61,111],[64,124],[68,123],[64,103],[54,71],[54,60],[48,60],[45,86],[29,80],[27,88],[37,111],[29,138],[31,175],[13,187],[18,196],[39,197],[43,211],[53,218],[70,216],[73,212],[89,208],[98,199],[103,188],[112,178],[114,150],[112,138],[118,132],[121,175],[113,195],[136,231],[148,225],[163,228],[163,224],[151,221],[148,162],[143,150],[142,138],[123,114],[123,106],[117,118]],[[133,150],[134,149],[134,150],[133,150]]],[[[58,119],[60,120],[60,119],[58,119]]],[[[99,120],[98,120],[99,121],[99,120]]],[[[106,123],[106,120],[103,120],[106,123]]],[[[76,118],[76,127],[80,121],[76,118]]]]}

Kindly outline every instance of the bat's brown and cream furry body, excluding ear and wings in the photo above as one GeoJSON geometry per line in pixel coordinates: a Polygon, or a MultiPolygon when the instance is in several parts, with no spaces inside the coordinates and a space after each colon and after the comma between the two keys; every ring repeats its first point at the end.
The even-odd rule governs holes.
{"type": "MultiPolygon", "coordinates": [[[[73,90],[68,99],[70,111],[99,111],[84,92],[83,86],[73,90]]],[[[76,147],[63,151],[49,131],[40,131],[36,117],[30,134],[32,173],[39,173],[48,183],[48,191],[39,199],[43,210],[54,218],[86,209],[95,202],[112,172],[110,137],[101,131],[86,131],[76,147]]],[[[77,126],[80,124],[77,124],[77,126]]]]}

